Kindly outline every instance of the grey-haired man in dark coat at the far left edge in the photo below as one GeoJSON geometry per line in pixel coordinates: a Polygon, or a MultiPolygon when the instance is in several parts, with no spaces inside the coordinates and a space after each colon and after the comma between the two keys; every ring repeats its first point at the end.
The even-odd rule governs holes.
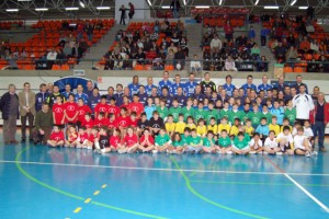
{"type": "Polygon", "coordinates": [[[0,100],[0,111],[3,119],[4,143],[18,143],[15,140],[16,119],[19,117],[19,96],[15,93],[16,87],[9,84],[8,92],[0,100]]]}

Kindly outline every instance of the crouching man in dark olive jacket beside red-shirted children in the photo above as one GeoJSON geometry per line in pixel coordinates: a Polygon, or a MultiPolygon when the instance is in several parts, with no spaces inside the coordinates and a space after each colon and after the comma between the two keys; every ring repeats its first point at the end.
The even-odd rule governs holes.
{"type": "Polygon", "coordinates": [[[35,127],[33,129],[33,142],[42,142],[44,145],[49,140],[53,128],[53,112],[50,111],[49,104],[44,103],[43,107],[35,115],[35,127]]]}

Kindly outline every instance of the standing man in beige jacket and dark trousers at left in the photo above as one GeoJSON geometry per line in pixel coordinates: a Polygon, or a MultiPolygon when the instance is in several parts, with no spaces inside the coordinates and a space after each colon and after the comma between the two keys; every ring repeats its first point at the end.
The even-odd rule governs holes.
{"type": "Polygon", "coordinates": [[[35,116],[35,94],[31,91],[31,84],[24,83],[24,90],[19,93],[20,116],[22,124],[22,141],[26,140],[26,120],[29,120],[30,140],[32,141],[32,129],[35,116]]]}

